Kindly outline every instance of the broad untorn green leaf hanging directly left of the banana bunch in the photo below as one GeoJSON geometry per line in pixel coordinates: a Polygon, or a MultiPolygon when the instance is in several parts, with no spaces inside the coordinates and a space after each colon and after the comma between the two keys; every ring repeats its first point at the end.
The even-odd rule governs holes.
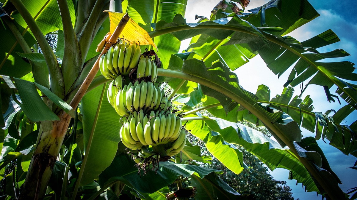
{"type": "Polygon", "coordinates": [[[81,185],[93,181],[115,157],[120,142],[120,116],[107,100],[107,86],[101,85],[81,101],[85,159],[81,185]]]}

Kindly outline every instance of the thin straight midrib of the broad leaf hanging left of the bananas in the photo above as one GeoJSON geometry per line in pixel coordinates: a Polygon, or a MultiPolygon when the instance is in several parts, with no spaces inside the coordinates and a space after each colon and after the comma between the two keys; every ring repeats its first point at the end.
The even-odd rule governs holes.
{"type": "Polygon", "coordinates": [[[79,175],[78,175],[78,179],[76,181],[76,185],[75,185],[74,190],[73,190],[72,200],[76,199],[77,191],[78,191],[79,185],[81,183],[81,179],[82,179],[82,176],[83,176],[84,168],[86,167],[86,163],[87,163],[87,160],[88,160],[88,155],[90,153],[90,148],[91,148],[91,144],[92,144],[92,140],[93,140],[94,130],[95,130],[95,127],[97,125],[98,116],[99,116],[99,112],[100,112],[100,109],[101,109],[101,105],[102,105],[102,101],[103,101],[103,97],[104,97],[104,93],[105,93],[105,88],[106,88],[106,84],[103,85],[102,94],[100,96],[97,112],[96,112],[95,117],[94,117],[93,127],[92,127],[92,131],[90,133],[89,139],[88,139],[88,144],[87,144],[87,148],[86,148],[86,151],[85,151],[84,159],[83,159],[83,162],[82,162],[82,165],[81,165],[81,169],[79,171],[79,175]]]}

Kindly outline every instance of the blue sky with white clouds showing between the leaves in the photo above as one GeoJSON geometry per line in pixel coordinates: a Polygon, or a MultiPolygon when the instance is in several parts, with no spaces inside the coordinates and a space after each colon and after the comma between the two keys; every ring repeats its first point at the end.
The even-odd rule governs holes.
{"type": "MultiPolygon", "coordinates": [[[[191,23],[197,22],[197,20],[195,20],[196,14],[199,16],[209,17],[212,8],[217,5],[218,2],[219,0],[188,0],[185,15],[186,21],[191,23]],[[202,4],[204,6],[202,6],[202,4]]],[[[247,9],[249,10],[261,6],[266,2],[268,1],[251,0],[247,9]]],[[[320,52],[328,52],[341,48],[350,53],[352,56],[335,60],[330,59],[328,60],[329,62],[348,60],[353,63],[357,63],[357,17],[355,16],[357,1],[309,0],[309,2],[313,5],[313,7],[315,7],[321,16],[317,17],[315,20],[307,23],[306,25],[303,25],[288,35],[296,38],[298,41],[305,41],[328,29],[331,29],[337,34],[341,42],[337,42],[327,47],[322,47],[318,50],[320,52]]],[[[185,49],[189,42],[190,40],[182,41],[181,49],[185,49]]],[[[240,85],[242,85],[244,89],[255,93],[258,85],[265,84],[271,89],[271,95],[275,96],[276,94],[281,94],[283,90],[283,84],[286,82],[290,70],[287,70],[288,73],[285,73],[281,75],[280,78],[278,78],[277,75],[275,75],[266,67],[266,64],[263,62],[263,60],[259,56],[256,56],[255,58],[251,59],[251,62],[238,68],[235,70],[235,72],[238,75],[240,85]]],[[[300,89],[298,86],[294,89],[295,94],[300,94],[300,89]]],[[[336,91],[336,87],[332,87],[330,91],[333,93],[336,91]]],[[[314,111],[325,112],[328,109],[338,110],[338,108],[342,107],[342,105],[346,105],[343,100],[341,100],[342,105],[339,105],[337,102],[329,103],[322,86],[310,85],[304,94],[311,95],[311,99],[314,101],[314,111]]],[[[303,96],[303,98],[305,98],[305,96],[303,96]]],[[[354,111],[350,116],[347,117],[345,124],[350,125],[356,119],[357,111],[354,111]]],[[[303,128],[302,135],[304,137],[315,136],[314,133],[304,130],[303,128]]],[[[347,169],[348,167],[352,167],[356,161],[356,158],[353,156],[344,155],[338,149],[330,146],[327,140],[326,142],[327,144],[321,139],[318,140],[318,144],[327,157],[332,170],[338,175],[343,183],[340,184],[341,189],[346,192],[348,189],[357,186],[357,170],[347,169]]],[[[321,196],[317,197],[316,193],[306,193],[305,190],[302,189],[302,184],[296,185],[296,180],[288,180],[287,170],[276,169],[271,172],[271,174],[277,180],[287,181],[287,184],[292,188],[293,196],[296,199],[321,199],[321,196]]]]}

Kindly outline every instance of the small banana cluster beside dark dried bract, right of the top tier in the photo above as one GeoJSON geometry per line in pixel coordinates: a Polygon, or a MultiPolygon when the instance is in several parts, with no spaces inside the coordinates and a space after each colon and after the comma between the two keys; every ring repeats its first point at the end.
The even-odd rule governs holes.
{"type": "Polygon", "coordinates": [[[157,65],[154,60],[151,60],[150,56],[141,55],[137,66],[136,78],[140,80],[144,77],[150,77],[150,81],[155,83],[157,78],[157,65]]]}

